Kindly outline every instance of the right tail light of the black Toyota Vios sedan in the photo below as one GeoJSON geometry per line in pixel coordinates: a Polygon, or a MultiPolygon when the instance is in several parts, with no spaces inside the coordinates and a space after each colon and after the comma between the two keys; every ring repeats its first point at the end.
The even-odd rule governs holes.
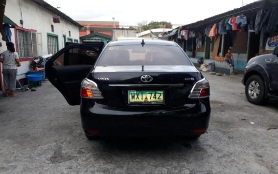
{"type": "Polygon", "coordinates": [[[206,98],[209,97],[209,95],[209,81],[203,78],[194,84],[189,98],[206,98]]]}

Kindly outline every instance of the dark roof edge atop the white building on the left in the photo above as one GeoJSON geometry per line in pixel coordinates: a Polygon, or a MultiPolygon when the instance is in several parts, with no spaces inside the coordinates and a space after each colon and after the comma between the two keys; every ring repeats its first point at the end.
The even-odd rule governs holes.
{"type": "Polygon", "coordinates": [[[32,0],[33,2],[39,4],[40,6],[44,7],[45,9],[55,13],[57,16],[60,16],[61,18],[68,20],[69,22],[71,22],[72,24],[78,26],[79,28],[82,28],[83,26],[80,25],[78,22],[74,21],[73,19],[71,19],[69,16],[67,16],[66,14],[62,13],[60,10],[58,10],[57,8],[51,6],[49,3],[47,3],[44,0],[32,0]]]}

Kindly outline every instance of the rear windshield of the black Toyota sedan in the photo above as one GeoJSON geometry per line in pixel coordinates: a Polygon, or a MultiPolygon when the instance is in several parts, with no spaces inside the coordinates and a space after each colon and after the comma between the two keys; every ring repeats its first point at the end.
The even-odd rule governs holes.
{"type": "Polygon", "coordinates": [[[97,65],[190,65],[190,62],[177,46],[122,45],[107,47],[97,65]]]}

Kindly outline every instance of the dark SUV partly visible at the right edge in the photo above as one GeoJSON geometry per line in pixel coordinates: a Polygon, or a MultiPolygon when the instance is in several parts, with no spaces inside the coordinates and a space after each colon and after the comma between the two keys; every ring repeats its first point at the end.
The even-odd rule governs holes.
{"type": "Polygon", "coordinates": [[[242,79],[249,102],[261,105],[269,98],[278,98],[278,47],[273,54],[251,58],[242,79]]]}

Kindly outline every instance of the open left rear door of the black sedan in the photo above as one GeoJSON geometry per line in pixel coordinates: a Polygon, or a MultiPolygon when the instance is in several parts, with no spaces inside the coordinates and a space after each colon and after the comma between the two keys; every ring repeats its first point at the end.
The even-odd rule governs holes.
{"type": "Polygon", "coordinates": [[[80,84],[103,47],[103,42],[70,44],[46,62],[46,77],[70,105],[80,104],[80,84]]]}

